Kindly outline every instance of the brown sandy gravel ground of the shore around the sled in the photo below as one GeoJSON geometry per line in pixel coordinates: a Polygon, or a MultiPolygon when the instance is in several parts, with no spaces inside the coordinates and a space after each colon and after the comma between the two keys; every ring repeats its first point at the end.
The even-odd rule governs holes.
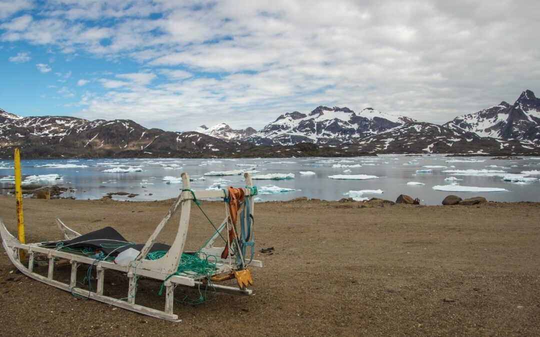
{"type": "MultiPolygon", "coordinates": [[[[144,242],[171,203],[25,199],[26,240],[59,239],[59,216],[79,232],[110,225],[144,242]]],[[[256,294],[176,304],[180,323],[75,299],[10,273],[2,254],[0,335],[540,334],[540,203],[361,205],[257,203],[257,250],[275,252],[258,254],[256,294]]],[[[202,207],[222,219],[222,202],[202,207]]],[[[15,233],[14,197],[0,197],[0,218],[15,233]]],[[[197,249],[209,227],[192,208],[187,249],[197,249]]],[[[144,283],[137,299],[160,307],[158,288],[144,283]]]]}

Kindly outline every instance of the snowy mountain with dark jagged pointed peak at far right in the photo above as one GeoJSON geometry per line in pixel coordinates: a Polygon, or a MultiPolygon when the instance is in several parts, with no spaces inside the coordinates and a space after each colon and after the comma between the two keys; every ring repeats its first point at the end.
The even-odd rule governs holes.
{"type": "Polygon", "coordinates": [[[481,111],[458,116],[444,126],[482,137],[517,139],[540,145],[540,99],[525,90],[513,105],[501,102],[481,111]]]}

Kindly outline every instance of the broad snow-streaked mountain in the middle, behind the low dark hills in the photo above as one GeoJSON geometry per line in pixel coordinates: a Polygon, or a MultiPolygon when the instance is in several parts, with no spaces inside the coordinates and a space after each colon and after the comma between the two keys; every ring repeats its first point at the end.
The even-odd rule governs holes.
{"type": "Polygon", "coordinates": [[[373,108],[363,109],[356,114],[349,108],[319,106],[307,115],[298,111],[281,115],[248,137],[248,141],[257,145],[300,142],[339,144],[373,136],[413,121],[373,108]]]}

